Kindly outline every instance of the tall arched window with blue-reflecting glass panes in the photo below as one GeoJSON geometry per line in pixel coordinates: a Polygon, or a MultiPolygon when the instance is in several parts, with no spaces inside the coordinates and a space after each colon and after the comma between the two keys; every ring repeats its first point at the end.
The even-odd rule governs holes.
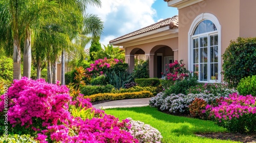
{"type": "Polygon", "coordinates": [[[198,22],[194,23],[194,27],[190,28],[189,68],[191,71],[198,73],[199,82],[220,82],[220,30],[210,19],[202,17],[199,19],[201,20],[196,20],[198,22]]]}

